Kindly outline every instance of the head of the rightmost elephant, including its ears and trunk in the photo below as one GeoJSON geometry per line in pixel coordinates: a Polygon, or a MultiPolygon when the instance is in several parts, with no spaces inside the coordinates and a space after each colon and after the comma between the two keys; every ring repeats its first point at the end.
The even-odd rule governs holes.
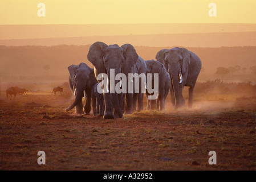
{"type": "MultiPolygon", "coordinates": [[[[162,49],[156,55],[156,60],[165,65],[166,71],[171,77],[171,85],[174,91],[175,107],[178,109],[181,103],[182,88],[186,84],[188,69],[190,66],[190,51],[185,48],[174,47],[172,49],[162,49]]],[[[171,89],[172,90],[172,89],[171,89]]]]}

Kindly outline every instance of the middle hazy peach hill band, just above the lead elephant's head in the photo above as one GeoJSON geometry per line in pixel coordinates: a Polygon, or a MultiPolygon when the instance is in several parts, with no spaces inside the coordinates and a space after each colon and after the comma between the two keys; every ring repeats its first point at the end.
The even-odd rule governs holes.
{"type": "Polygon", "coordinates": [[[256,32],[218,32],[194,34],[159,34],[159,35],[115,35],[115,36],[86,36],[71,38],[45,38],[45,39],[13,39],[0,40],[5,46],[57,46],[86,45],[96,41],[106,44],[130,43],[133,46],[150,47],[234,47],[256,46],[256,32]]]}

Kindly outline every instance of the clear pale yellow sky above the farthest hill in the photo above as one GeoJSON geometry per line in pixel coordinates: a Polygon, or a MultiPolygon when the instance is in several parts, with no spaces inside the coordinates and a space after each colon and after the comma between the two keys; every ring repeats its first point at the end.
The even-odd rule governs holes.
{"type": "Polygon", "coordinates": [[[1,0],[0,24],[256,23],[255,8],[255,0],[1,0]]]}

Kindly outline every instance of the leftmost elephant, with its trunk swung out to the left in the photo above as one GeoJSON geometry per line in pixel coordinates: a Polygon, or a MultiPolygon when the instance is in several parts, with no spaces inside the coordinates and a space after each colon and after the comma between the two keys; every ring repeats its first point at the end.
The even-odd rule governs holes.
{"type": "Polygon", "coordinates": [[[76,113],[83,114],[83,102],[82,98],[86,98],[86,104],[84,105],[84,112],[90,114],[91,111],[91,90],[97,83],[94,75],[94,69],[88,67],[85,63],[79,65],[70,65],[68,67],[69,77],[68,83],[75,96],[73,104],[66,109],[70,111],[76,106],[76,113]]]}

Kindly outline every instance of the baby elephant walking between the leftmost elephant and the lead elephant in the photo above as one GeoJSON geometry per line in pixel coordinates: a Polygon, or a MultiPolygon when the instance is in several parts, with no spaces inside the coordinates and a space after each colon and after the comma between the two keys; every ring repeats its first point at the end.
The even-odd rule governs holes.
{"type": "Polygon", "coordinates": [[[99,116],[102,117],[105,111],[104,97],[103,93],[97,92],[97,85],[99,85],[99,83],[96,83],[91,91],[92,111],[95,116],[99,114],[99,116]]]}

